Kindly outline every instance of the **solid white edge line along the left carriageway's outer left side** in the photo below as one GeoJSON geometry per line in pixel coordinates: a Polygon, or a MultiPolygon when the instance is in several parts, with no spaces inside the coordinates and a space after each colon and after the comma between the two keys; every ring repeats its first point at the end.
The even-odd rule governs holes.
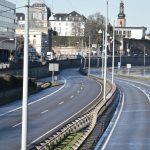
{"type": "MultiPolygon", "coordinates": [[[[56,90],[56,91],[52,92],[51,94],[46,95],[46,96],[44,96],[44,97],[42,97],[42,98],[40,98],[40,99],[38,99],[38,100],[35,100],[34,102],[29,103],[28,106],[29,106],[29,105],[32,105],[32,104],[34,104],[34,103],[36,103],[36,102],[42,101],[43,99],[45,99],[45,98],[47,98],[47,97],[49,97],[49,96],[51,96],[51,95],[53,95],[53,94],[59,92],[60,90],[62,90],[62,89],[65,87],[66,83],[67,83],[67,81],[66,81],[66,79],[64,79],[64,85],[63,85],[62,87],[60,87],[58,90],[56,90]]],[[[12,110],[9,110],[9,111],[7,111],[7,112],[5,112],[5,113],[3,113],[3,114],[0,114],[0,117],[4,116],[4,115],[6,115],[6,114],[12,113],[12,112],[14,112],[14,111],[16,111],[16,110],[19,110],[19,109],[21,109],[21,108],[22,108],[22,106],[21,106],[21,107],[18,107],[18,108],[15,108],[15,109],[12,109],[12,110]]]]}

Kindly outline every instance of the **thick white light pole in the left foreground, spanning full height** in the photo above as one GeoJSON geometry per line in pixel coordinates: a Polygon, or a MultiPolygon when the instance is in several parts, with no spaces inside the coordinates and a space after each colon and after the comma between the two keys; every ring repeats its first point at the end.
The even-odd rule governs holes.
{"type": "Polygon", "coordinates": [[[28,112],[28,45],[29,45],[29,0],[25,6],[25,35],[23,61],[23,104],[22,104],[22,137],[21,150],[27,149],[27,112],[28,112]]]}

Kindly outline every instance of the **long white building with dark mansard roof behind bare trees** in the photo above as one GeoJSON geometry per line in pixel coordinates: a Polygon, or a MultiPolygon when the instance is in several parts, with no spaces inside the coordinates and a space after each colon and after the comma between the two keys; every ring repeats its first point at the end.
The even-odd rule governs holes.
{"type": "Polygon", "coordinates": [[[86,18],[75,11],[57,13],[54,20],[50,20],[50,26],[59,36],[84,36],[85,21],[86,18]]]}

